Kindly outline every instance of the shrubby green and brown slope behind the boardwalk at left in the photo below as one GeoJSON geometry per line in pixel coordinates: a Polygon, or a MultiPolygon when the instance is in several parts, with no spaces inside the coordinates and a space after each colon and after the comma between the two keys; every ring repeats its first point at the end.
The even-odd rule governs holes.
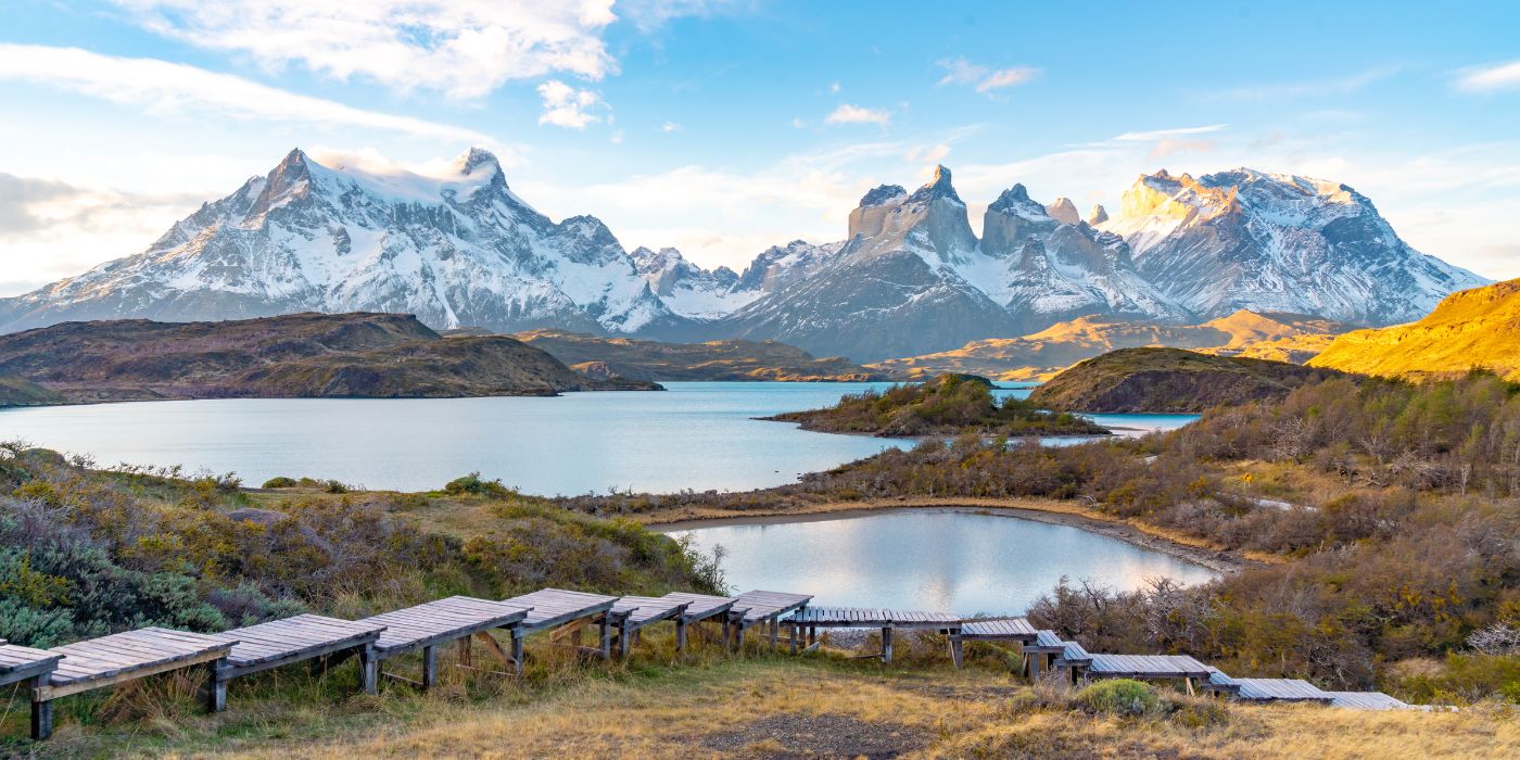
{"type": "Polygon", "coordinates": [[[717,582],[693,552],[637,523],[517,497],[479,476],[442,494],[492,508],[473,534],[444,535],[404,514],[427,496],[321,483],[255,503],[233,476],[102,471],[20,444],[0,451],[0,638],[26,646],[556,584],[664,593],[717,582]]]}

